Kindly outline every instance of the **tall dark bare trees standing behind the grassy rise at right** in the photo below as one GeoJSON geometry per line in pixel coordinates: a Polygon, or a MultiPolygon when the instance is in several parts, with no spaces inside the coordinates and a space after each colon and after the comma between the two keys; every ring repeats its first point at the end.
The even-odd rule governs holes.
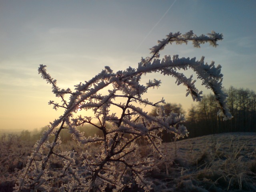
{"type": "Polygon", "coordinates": [[[188,110],[186,126],[190,137],[223,132],[256,131],[256,94],[253,90],[234,88],[225,90],[228,94],[227,105],[233,116],[223,121],[217,115],[218,104],[214,95],[204,96],[201,102],[188,110]]]}

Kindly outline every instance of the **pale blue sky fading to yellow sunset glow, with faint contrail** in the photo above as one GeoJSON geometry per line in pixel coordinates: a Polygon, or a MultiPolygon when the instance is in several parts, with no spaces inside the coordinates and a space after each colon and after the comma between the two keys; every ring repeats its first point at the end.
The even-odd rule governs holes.
{"type": "MultiPolygon", "coordinates": [[[[216,48],[172,44],[160,57],[205,56],[222,66],[224,88],[256,91],[255,10],[255,0],[0,0],[0,131],[40,129],[63,113],[48,105],[58,98],[38,74],[40,64],[60,88],[74,89],[104,66],[136,68],[170,32],[222,33],[216,48]]],[[[196,105],[171,77],[150,74],[142,82],[154,78],[162,85],[145,95],[149,100],[196,105]]],[[[200,80],[196,85],[210,93],[200,80]]]]}

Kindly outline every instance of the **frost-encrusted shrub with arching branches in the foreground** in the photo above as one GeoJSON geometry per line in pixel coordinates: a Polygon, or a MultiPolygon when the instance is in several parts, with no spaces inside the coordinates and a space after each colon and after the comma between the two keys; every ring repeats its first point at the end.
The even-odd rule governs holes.
{"type": "Polygon", "coordinates": [[[151,182],[147,181],[144,175],[152,167],[153,159],[140,157],[137,141],[148,141],[155,152],[164,156],[159,148],[162,143],[160,133],[167,130],[179,138],[188,136],[188,131],[181,124],[185,121],[184,115],[165,114],[160,105],[164,103],[163,98],[156,103],[142,98],[149,88],[158,88],[161,81],[149,80],[143,85],[140,83],[141,76],[152,72],[172,76],[177,85],[187,87],[186,96],[191,95],[192,100],[200,101],[202,92],[196,88],[196,80],[193,80],[193,76],[186,77],[179,72],[193,70],[202,85],[214,93],[220,106],[218,114],[224,119],[232,118],[226,107],[226,94],[222,92],[220,66],[215,67],[214,62],[210,65],[204,63],[204,57],[196,60],[174,55],[159,59],[159,52],[173,42],[187,44],[192,41],[195,47],[209,42],[215,47],[218,40],[222,40],[222,34],[215,32],[208,36],[196,36],[192,31],[186,34],[170,33],[166,39],[159,40],[158,45],[150,49],[152,56],[142,58],[138,68],[128,67],[126,70],[114,72],[106,66],[91,80],[75,85],[74,92],[70,88],[60,89],[56,80],[46,73],[46,66],[40,65],[39,74],[52,85],[52,92],[62,100],[62,104],[52,100],[49,104],[56,110],[63,108],[64,113],[50,123],[48,130],[35,145],[22,175],[17,180],[16,191],[122,191],[134,182],[145,191],[150,191],[151,182]],[[105,95],[100,93],[104,88],[109,88],[105,95]],[[64,99],[66,95],[70,96],[68,102],[64,99]],[[122,102],[117,102],[117,98],[122,98],[122,102]],[[158,116],[151,116],[138,107],[138,104],[156,106],[158,116]],[[119,108],[120,114],[113,113],[112,106],[119,108]],[[74,116],[80,110],[93,110],[94,116],[74,116]],[[77,127],[86,124],[93,126],[101,135],[85,137],[77,127]],[[57,149],[61,145],[60,132],[63,129],[69,130],[74,140],[83,146],[84,151],[57,149]],[[88,147],[91,144],[97,146],[97,150],[89,152],[88,147]],[[54,158],[64,162],[63,168],[58,172],[53,172],[49,166],[54,158]],[[55,183],[59,180],[62,180],[62,184],[56,186],[55,183]]]}

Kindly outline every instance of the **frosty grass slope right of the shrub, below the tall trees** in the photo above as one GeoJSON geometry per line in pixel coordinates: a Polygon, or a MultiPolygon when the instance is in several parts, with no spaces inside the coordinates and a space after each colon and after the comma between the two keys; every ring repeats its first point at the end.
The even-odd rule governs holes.
{"type": "Polygon", "coordinates": [[[256,133],[214,134],[163,144],[156,191],[256,191],[256,133]]]}

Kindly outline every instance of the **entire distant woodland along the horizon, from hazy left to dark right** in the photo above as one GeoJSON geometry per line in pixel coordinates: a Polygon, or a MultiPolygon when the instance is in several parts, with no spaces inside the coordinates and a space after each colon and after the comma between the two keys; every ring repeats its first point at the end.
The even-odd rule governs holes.
{"type": "MultiPolygon", "coordinates": [[[[181,104],[176,103],[167,103],[164,105],[164,109],[166,114],[170,114],[171,112],[186,114],[187,121],[182,124],[189,131],[188,138],[223,132],[256,132],[255,92],[243,88],[237,89],[232,86],[225,92],[228,94],[227,104],[233,116],[231,120],[223,121],[217,115],[219,108],[213,94],[204,96],[202,101],[198,102],[196,106],[192,106],[187,113],[183,110],[181,104]]],[[[153,109],[150,114],[156,116],[156,109],[153,109]]],[[[41,130],[33,132],[23,130],[17,136],[17,139],[35,143],[41,137],[41,133],[47,128],[45,126],[41,130]]],[[[78,129],[84,132],[86,136],[101,134],[93,126],[78,127],[78,129]]],[[[62,142],[72,140],[72,136],[68,133],[68,130],[62,130],[60,136],[62,142]]],[[[11,138],[12,136],[10,134],[2,134],[1,139],[8,140],[9,137],[11,138]]],[[[174,141],[174,135],[167,132],[162,132],[161,137],[163,142],[174,141]]]]}

